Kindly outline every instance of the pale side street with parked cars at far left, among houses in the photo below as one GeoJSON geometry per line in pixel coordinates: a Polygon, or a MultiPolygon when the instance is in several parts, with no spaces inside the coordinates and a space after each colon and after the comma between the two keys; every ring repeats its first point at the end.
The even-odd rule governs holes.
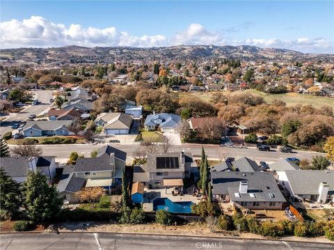
{"type": "Polygon", "coordinates": [[[19,112],[17,115],[9,118],[8,120],[1,121],[0,134],[5,134],[8,131],[12,131],[11,126],[15,123],[22,123],[28,120],[30,114],[36,116],[45,111],[50,106],[50,98],[52,97],[52,91],[32,91],[37,94],[37,99],[42,102],[38,105],[30,105],[27,109],[19,112]]]}

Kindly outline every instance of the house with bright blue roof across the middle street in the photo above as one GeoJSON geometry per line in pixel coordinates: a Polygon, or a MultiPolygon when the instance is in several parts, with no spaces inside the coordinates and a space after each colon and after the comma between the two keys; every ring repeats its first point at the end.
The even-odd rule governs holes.
{"type": "Polygon", "coordinates": [[[161,132],[175,133],[180,120],[180,116],[175,114],[152,114],[146,117],[144,126],[145,130],[159,129],[161,132]]]}

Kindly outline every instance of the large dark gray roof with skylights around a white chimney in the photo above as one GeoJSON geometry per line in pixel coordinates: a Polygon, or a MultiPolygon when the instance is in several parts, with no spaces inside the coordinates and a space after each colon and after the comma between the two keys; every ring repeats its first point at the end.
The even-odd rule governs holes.
{"type": "Polygon", "coordinates": [[[269,172],[212,172],[212,194],[228,194],[232,201],[281,201],[285,202],[283,194],[276,184],[273,173],[269,172]],[[241,181],[248,182],[247,194],[240,194],[237,198],[234,193],[239,193],[241,181]],[[251,198],[250,194],[255,194],[251,198]],[[273,194],[273,198],[269,196],[273,194]]]}

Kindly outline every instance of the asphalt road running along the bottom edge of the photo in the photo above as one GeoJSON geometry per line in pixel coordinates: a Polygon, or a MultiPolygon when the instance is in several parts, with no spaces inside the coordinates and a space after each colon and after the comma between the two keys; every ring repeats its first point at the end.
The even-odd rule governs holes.
{"type": "Polygon", "coordinates": [[[1,234],[0,249],[333,249],[334,244],[121,233],[1,234]]]}

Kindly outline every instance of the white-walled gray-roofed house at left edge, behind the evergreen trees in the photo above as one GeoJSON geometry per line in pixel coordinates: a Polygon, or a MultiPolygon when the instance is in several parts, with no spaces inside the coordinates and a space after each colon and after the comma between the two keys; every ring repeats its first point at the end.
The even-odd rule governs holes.
{"type": "Polygon", "coordinates": [[[40,171],[47,175],[49,182],[56,175],[58,164],[54,156],[40,157],[2,157],[1,168],[17,182],[24,182],[29,171],[40,171]]]}

